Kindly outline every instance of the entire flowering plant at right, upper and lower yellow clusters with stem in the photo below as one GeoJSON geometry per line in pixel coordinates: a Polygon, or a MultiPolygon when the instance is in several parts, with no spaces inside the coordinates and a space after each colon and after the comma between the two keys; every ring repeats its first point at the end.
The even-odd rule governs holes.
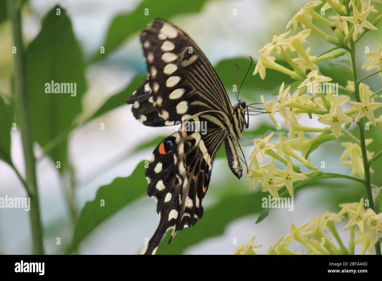
{"type": "MultiPolygon", "coordinates": [[[[380,0],[373,2],[381,3],[380,0]]],[[[253,75],[259,74],[264,80],[266,70],[272,69],[295,81],[282,83],[274,93],[277,95],[278,92],[277,99],[266,101],[261,96],[269,119],[277,126],[278,141],[273,139],[275,132],[254,140],[255,148],[246,172],[249,188],[256,188],[260,182],[261,191],[269,192],[274,198],[283,197],[286,193],[293,197],[294,189],[306,182],[343,178],[363,184],[368,194],[366,203],[361,199],[359,203],[341,204],[339,213],[325,212],[299,227],[292,224],[290,233],[270,246],[269,254],[298,254],[287,248],[293,240],[306,247],[305,253],[354,254],[354,245],[361,244],[362,254],[372,252],[374,245],[376,253],[380,254],[382,213],[379,213],[380,207],[375,206],[374,201],[382,187],[371,183],[370,174],[373,172],[371,164],[382,156],[382,151],[374,153],[366,149],[373,140],[365,138],[364,130],[377,123],[382,129],[382,115],[376,116],[376,110],[382,107],[379,99],[382,89],[373,91],[366,83],[374,75],[382,76],[382,46],[379,44],[378,48],[371,48],[375,52],[365,49],[364,55],[368,59],[362,69],[371,72],[359,78],[356,44],[367,32],[376,31],[381,21],[382,14],[371,5],[371,0],[327,0],[324,4],[319,0],[309,1],[286,25],[286,29],[293,25],[295,30],[301,26],[301,31],[295,35],[291,34],[291,30],[275,35],[272,42],[259,50],[261,54],[253,75]],[[325,16],[327,10],[330,16],[325,16]],[[311,34],[317,34],[334,47],[323,54],[313,55],[310,47],[303,46],[311,34]],[[332,60],[339,57],[341,60],[332,60]],[[324,60],[347,68],[353,77],[346,85],[340,85],[334,75],[324,68],[320,69],[320,62],[324,60]],[[283,124],[277,121],[279,116],[283,124]],[[316,125],[303,125],[302,117],[306,116],[309,119],[314,117],[322,125],[317,125],[317,122],[314,123],[316,125]],[[353,135],[352,128],[358,128],[359,137],[353,135]],[[337,139],[345,140],[341,146],[338,145],[344,149],[339,163],[350,166],[351,175],[325,172],[322,165],[321,171],[309,161],[309,155],[322,143],[337,139]],[[278,169],[282,165],[285,169],[278,169]],[[302,171],[303,168],[308,171],[302,171]],[[282,191],[283,187],[286,188],[282,191]],[[377,189],[374,198],[372,188],[377,189]],[[342,221],[345,214],[349,220],[344,230],[350,229],[351,237],[348,248],[343,245],[334,225],[342,221]],[[335,245],[333,237],[327,236],[328,230],[338,245],[335,245]]],[[[236,253],[254,253],[253,242],[254,238],[240,246],[236,253]]]]}

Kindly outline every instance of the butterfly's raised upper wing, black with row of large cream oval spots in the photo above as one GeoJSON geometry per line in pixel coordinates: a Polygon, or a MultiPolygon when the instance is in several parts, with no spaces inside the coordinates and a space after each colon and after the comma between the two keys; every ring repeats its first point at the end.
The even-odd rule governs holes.
{"type": "Polygon", "coordinates": [[[141,103],[133,95],[128,103],[135,104],[134,115],[144,120],[144,125],[173,125],[205,110],[232,114],[230,100],[214,68],[183,31],[167,21],[154,19],[140,38],[149,73],[144,90],[150,93],[147,101],[152,97],[151,104],[160,117],[153,122],[154,116],[139,110],[141,103]]]}

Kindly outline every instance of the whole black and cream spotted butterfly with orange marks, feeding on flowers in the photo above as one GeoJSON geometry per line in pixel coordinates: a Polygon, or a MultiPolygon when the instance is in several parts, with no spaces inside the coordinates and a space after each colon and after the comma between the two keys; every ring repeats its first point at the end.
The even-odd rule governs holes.
{"type": "Polygon", "coordinates": [[[245,101],[232,107],[214,68],[197,45],[173,24],[154,19],[140,34],[148,75],[127,100],[146,126],[205,122],[165,138],[146,170],[147,194],[157,203],[160,222],[141,254],[155,254],[163,235],[193,226],[202,218],[202,200],[210,183],[215,154],[224,142],[228,164],[239,179],[243,168],[236,145],[248,128],[245,101]],[[195,129],[196,128],[196,129],[195,129]]]}

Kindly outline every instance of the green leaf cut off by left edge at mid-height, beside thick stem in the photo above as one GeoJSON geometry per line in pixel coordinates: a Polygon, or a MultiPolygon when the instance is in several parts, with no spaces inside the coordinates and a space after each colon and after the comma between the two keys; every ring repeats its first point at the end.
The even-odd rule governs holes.
{"type": "Polygon", "coordinates": [[[12,107],[0,96],[0,159],[12,166],[11,161],[11,127],[13,121],[12,107]]]}

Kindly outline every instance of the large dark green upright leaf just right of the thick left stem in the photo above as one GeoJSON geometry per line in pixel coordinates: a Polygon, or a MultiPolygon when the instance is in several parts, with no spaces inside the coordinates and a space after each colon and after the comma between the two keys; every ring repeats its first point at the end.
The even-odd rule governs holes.
{"type": "MultiPolygon", "coordinates": [[[[34,139],[46,146],[62,136],[49,156],[67,164],[67,134],[81,112],[81,97],[86,90],[85,65],[65,9],[55,6],[42,23],[42,29],[26,51],[27,88],[34,139]],[[61,15],[56,15],[56,9],[61,15]],[[46,83],[76,83],[76,96],[71,93],[45,93],[46,83]]],[[[74,84],[72,84],[74,86],[74,84]]],[[[60,171],[63,169],[60,169],[60,171]]]]}

